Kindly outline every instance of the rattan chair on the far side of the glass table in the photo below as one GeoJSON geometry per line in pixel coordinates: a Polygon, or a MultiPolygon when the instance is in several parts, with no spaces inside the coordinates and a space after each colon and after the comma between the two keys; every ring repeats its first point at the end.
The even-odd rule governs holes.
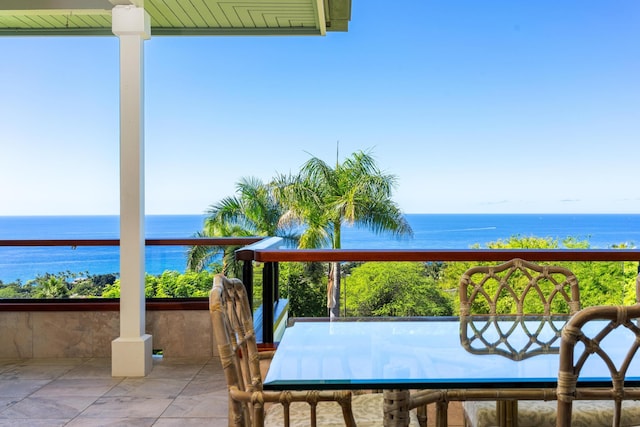
{"type": "MultiPolygon", "coordinates": [[[[462,275],[459,290],[462,325],[473,325],[474,317],[478,315],[535,314],[548,317],[554,314],[573,314],[580,310],[578,279],[570,270],[558,266],[542,266],[518,258],[496,266],[470,268],[462,275]]],[[[466,333],[466,328],[463,332],[466,333]]],[[[529,335],[531,342],[536,343],[535,334],[529,335]]],[[[481,336],[474,338],[481,342],[481,336]]],[[[464,336],[461,336],[461,341],[465,346],[464,336]]],[[[504,337],[503,343],[505,342],[508,342],[508,337],[504,337]]],[[[503,355],[517,360],[535,357],[538,350],[559,351],[558,344],[555,347],[553,345],[553,340],[548,343],[538,342],[534,348],[513,349],[503,352],[503,355]]],[[[497,349],[488,346],[486,351],[496,352],[497,349]]],[[[445,396],[449,400],[455,398],[463,401],[462,410],[467,426],[484,427],[499,423],[496,401],[491,401],[492,397],[500,405],[510,405],[506,408],[507,414],[512,414],[514,405],[517,405],[519,426],[538,427],[555,420],[555,402],[544,402],[554,398],[553,390],[487,389],[468,393],[448,392],[445,396]]],[[[444,416],[438,414],[439,418],[444,416]]]]}

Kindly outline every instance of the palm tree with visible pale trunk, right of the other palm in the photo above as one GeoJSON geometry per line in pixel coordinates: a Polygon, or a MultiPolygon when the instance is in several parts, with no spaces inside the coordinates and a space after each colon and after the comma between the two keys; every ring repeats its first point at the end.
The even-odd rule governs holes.
{"type": "MultiPolygon", "coordinates": [[[[372,155],[353,153],[335,168],[317,157],[309,159],[297,176],[279,176],[276,195],[287,206],[285,219],[300,221],[305,229],[300,248],[341,247],[342,225],[358,225],[374,233],[412,236],[411,226],[393,202],[395,175],[384,174],[372,155]]],[[[340,313],[340,263],[331,265],[327,307],[340,313]]]]}

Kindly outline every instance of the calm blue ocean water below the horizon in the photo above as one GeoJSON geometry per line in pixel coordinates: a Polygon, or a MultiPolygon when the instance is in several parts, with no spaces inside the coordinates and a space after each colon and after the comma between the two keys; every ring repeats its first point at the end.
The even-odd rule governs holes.
{"type": "MultiPolygon", "coordinates": [[[[191,237],[202,229],[204,216],[148,216],[145,229],[149,238],[191,237]]],[[[608,248],[640,242],[640,215],[431,215],[411,214],[407,220],[414,230],[413,239],[378,236],[366,230],[345,227],[345,249],[467,249],[474,244],[510,236],[566,237],[588,240],[592,248],[608,248]]],[[[2,239],[110,239],[119,237],[118,216],[42,216],[0,217],[2,239]]],[[[160,274],[164,270],[184,271],[184,247],[148,247],[146,270],[160,274]]],[[[0,246],[0,280],[26,282],[38,274],[63,271],[90,274],[119,270],[117,247],[9,248],[0,246]]]]}

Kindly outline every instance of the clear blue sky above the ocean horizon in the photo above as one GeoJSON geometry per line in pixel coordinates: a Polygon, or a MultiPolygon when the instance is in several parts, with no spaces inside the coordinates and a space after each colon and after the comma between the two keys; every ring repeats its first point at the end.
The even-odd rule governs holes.
{"type": "MultiPolygon", "coordinates": [[[[146,212],[203,213],[338,141],[407,213],[640,212],[639,22],[637,0],[353,0],[325,37],[152,35],[146,212]]],[[[117,38],[0,53],[0,215],[118,214],[117,38]]]]}

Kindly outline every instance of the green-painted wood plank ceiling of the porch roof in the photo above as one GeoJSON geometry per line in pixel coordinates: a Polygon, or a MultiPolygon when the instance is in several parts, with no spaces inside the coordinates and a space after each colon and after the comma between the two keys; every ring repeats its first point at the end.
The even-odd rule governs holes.
{"type": "Polygon", "coordinates": [[[111,9],[144,7],[153,35],[347,31],[351,0],[0,0],[0,35],[112,35],[111,9]]]}

